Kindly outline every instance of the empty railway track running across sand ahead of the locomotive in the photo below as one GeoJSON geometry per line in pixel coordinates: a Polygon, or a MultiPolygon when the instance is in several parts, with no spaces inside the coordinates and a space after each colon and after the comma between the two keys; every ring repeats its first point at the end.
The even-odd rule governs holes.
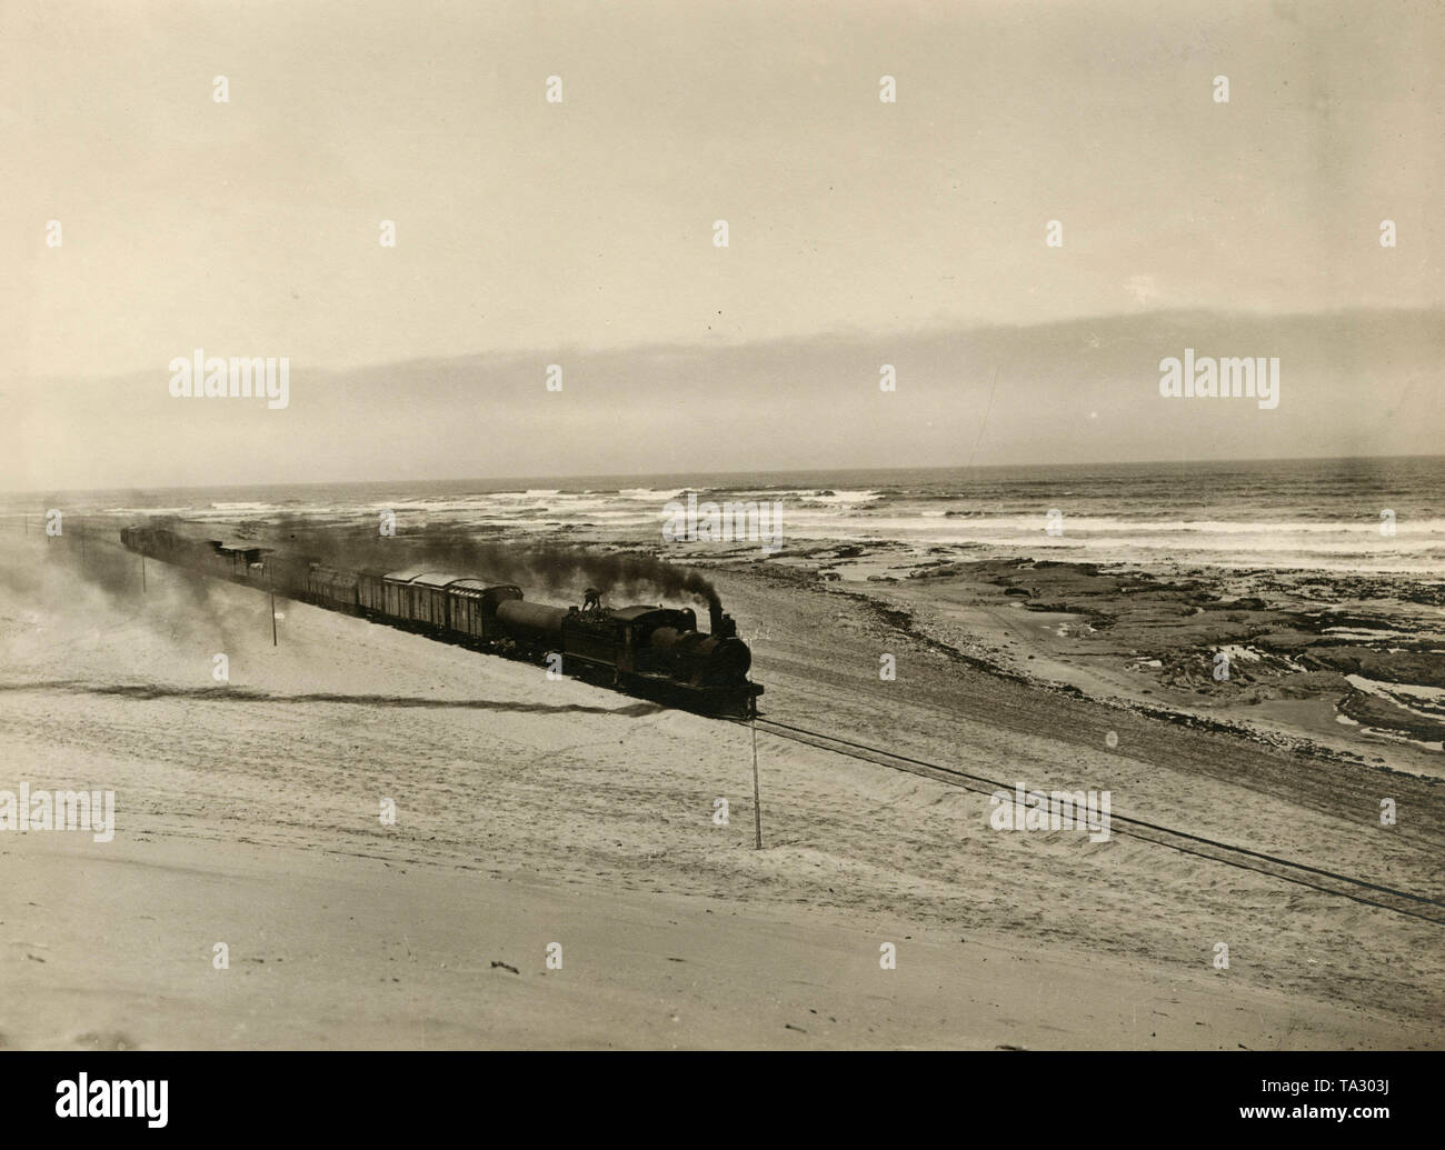
{"type": "MultiPolygon", "coordinates": [[[[733,721],[741,727],[747,727],[750,724],[749,719],[733,721]]],[[[987,779],[981,774],[958,770],[957,767],[945,767],[938,763],[929,763],[923,758],[915,758],[907,754],[890,751],[884,747],[855,743],[848,738],[840,738],[838,735],[825,734],[822,731],[812,731],[806,727],[798,727],[790,722],[764,718],[762,715],[751,722],[757,724],[757,730],[776,738],[818,747],[863,763],[874,763],[890,770],[907,771],[909,774],[918,774],[923,779],[933,779],[935,782],[957,786],[962,790],[971,790],[978,795],[993,795],[997,790],[1013,792],[1013,784],[1010,783],[987,779]]],[[[1354,878],[1348,874],[1340,874],[1322,867],[1312,867],[1306,862],[1296,862],[1266,851],[1254,851],[1248,847],[1235,847],[1230,842],[1221,842],[1220,839],[1195,835],[1188,831],[1178,831],[1172,826],[1163,826],[1157,822],[1149,822],[1129,815],[1111,812],[1110,831],[1113,834],[1129,835],[1140,842],[1152,842],[1156,847],[1165,847],[1181,854],[1205,858],[1211,862],[1235,867],[1237,870],[1254,871],[1256,874],[1264,874],[1270,878],[1293,883],[1338,899],[1348,899],[1354,903],[1361,903],[1363,906],[1373,906],[1380,910],[1389,910],[1394,915],[1422,919],[1423,922],[1433,923],[1435,926],[1445,926],[1445,913],[1438,913],[1445,912],[1445,900],[1441,899],[1431,899],[1425,894],[1415,894],[1407,890],[1400,890],[1383,883],[1373,883],[1366,878],[1354,878]]]]}

